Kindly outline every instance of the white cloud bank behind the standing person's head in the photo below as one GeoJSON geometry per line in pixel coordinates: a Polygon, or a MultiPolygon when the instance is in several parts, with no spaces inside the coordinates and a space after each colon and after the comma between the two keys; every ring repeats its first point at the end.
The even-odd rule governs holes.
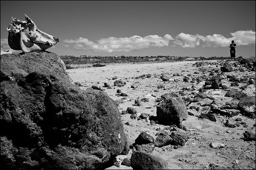
{"type": "Polygon", "coordinates": [[[196,47],[202,46],[214,46],[214,47],[226,47],[229,46],[231,40],[234,40],[237,45],[250,45],[255,44],[255,31],[237,31],[230,33],[232,37],[226,38],[220,34],[202,36],[199,34],[191,35],[180,33],[175,38],[174,44],[182,47],[196,47]]]}

